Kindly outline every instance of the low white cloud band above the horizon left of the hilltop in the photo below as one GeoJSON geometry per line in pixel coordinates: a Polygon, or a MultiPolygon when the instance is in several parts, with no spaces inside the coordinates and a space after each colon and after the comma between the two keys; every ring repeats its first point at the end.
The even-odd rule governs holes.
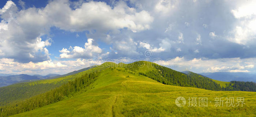
{"type": "Polygon", "coordinates": [[[0,70],[4,73],[25,73],[25,74],[39,74],[46,75],[49,73],[65,74],[78,69],[90,67],[92,65],[100,65],[100,61],[93,60],[68,60],[68,61],[42,61],[38,63],[19,63],[14,59],[2,58],[0,59],[0,70]]]}

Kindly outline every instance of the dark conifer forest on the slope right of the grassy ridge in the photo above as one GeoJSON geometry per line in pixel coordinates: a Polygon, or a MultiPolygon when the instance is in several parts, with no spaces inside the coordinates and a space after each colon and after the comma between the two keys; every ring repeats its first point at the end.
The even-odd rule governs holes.
{"type": "Polygon", "coordinates": [[[163,84],[174,86],[203,88],[213,91],[256,91],[256,83],[254,82],[231,81],[226,84],[226,87],[221,87],[212,79],[197,73],[189,72],[185,74],[160,65],[154,65],[154,67],[157,72],[153,70],[146,73],[139,72],[139,74],[163,84]]]}

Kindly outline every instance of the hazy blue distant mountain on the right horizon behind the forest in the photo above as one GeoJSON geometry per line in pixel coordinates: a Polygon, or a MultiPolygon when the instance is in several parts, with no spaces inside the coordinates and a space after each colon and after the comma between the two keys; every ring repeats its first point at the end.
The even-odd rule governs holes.
{"type": "Polygon", "coordinates": [[[256,74],[244,73],[244,72],[214,72],[214,73],[200,73],[204,76],[212,78],[214,80],[230,82],[230,81],[244,81],[244,82],[256,82],[256,74]]]}

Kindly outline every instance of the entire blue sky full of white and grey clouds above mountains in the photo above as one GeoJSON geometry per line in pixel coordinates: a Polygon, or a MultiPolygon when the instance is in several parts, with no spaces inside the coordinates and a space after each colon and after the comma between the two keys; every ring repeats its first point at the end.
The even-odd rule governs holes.
{"type": "Polygon", "coordinates": [[[256,1],[0,1],[0,73],[64,74],[120,60],[256,73],[256,1]]]}

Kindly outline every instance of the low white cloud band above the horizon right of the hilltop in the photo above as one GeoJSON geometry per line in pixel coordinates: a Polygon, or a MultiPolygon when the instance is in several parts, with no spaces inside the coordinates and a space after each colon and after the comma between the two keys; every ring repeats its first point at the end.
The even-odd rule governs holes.
{"type": "MultiPolygon", "coordinates": [[[[169,60],[170,61],[170,60],[169,60]]],[[[166,66],[174,66],[175,70],[186,71],[190,70],[196,73],[201,72],[251,72],[249,69],[254,68],[256,58],[240,59],[240,58],[225,58],[225,59],[192,59],[186,60],[184,57],[176,57],[171,60],[166,66]],[[252,64],[253,63],[253,64],[252,64]],[[191,67],[193,69],[191,69],[191,67]]],[[[167,61],[166,61],[167,62],[167,61]]]]}

